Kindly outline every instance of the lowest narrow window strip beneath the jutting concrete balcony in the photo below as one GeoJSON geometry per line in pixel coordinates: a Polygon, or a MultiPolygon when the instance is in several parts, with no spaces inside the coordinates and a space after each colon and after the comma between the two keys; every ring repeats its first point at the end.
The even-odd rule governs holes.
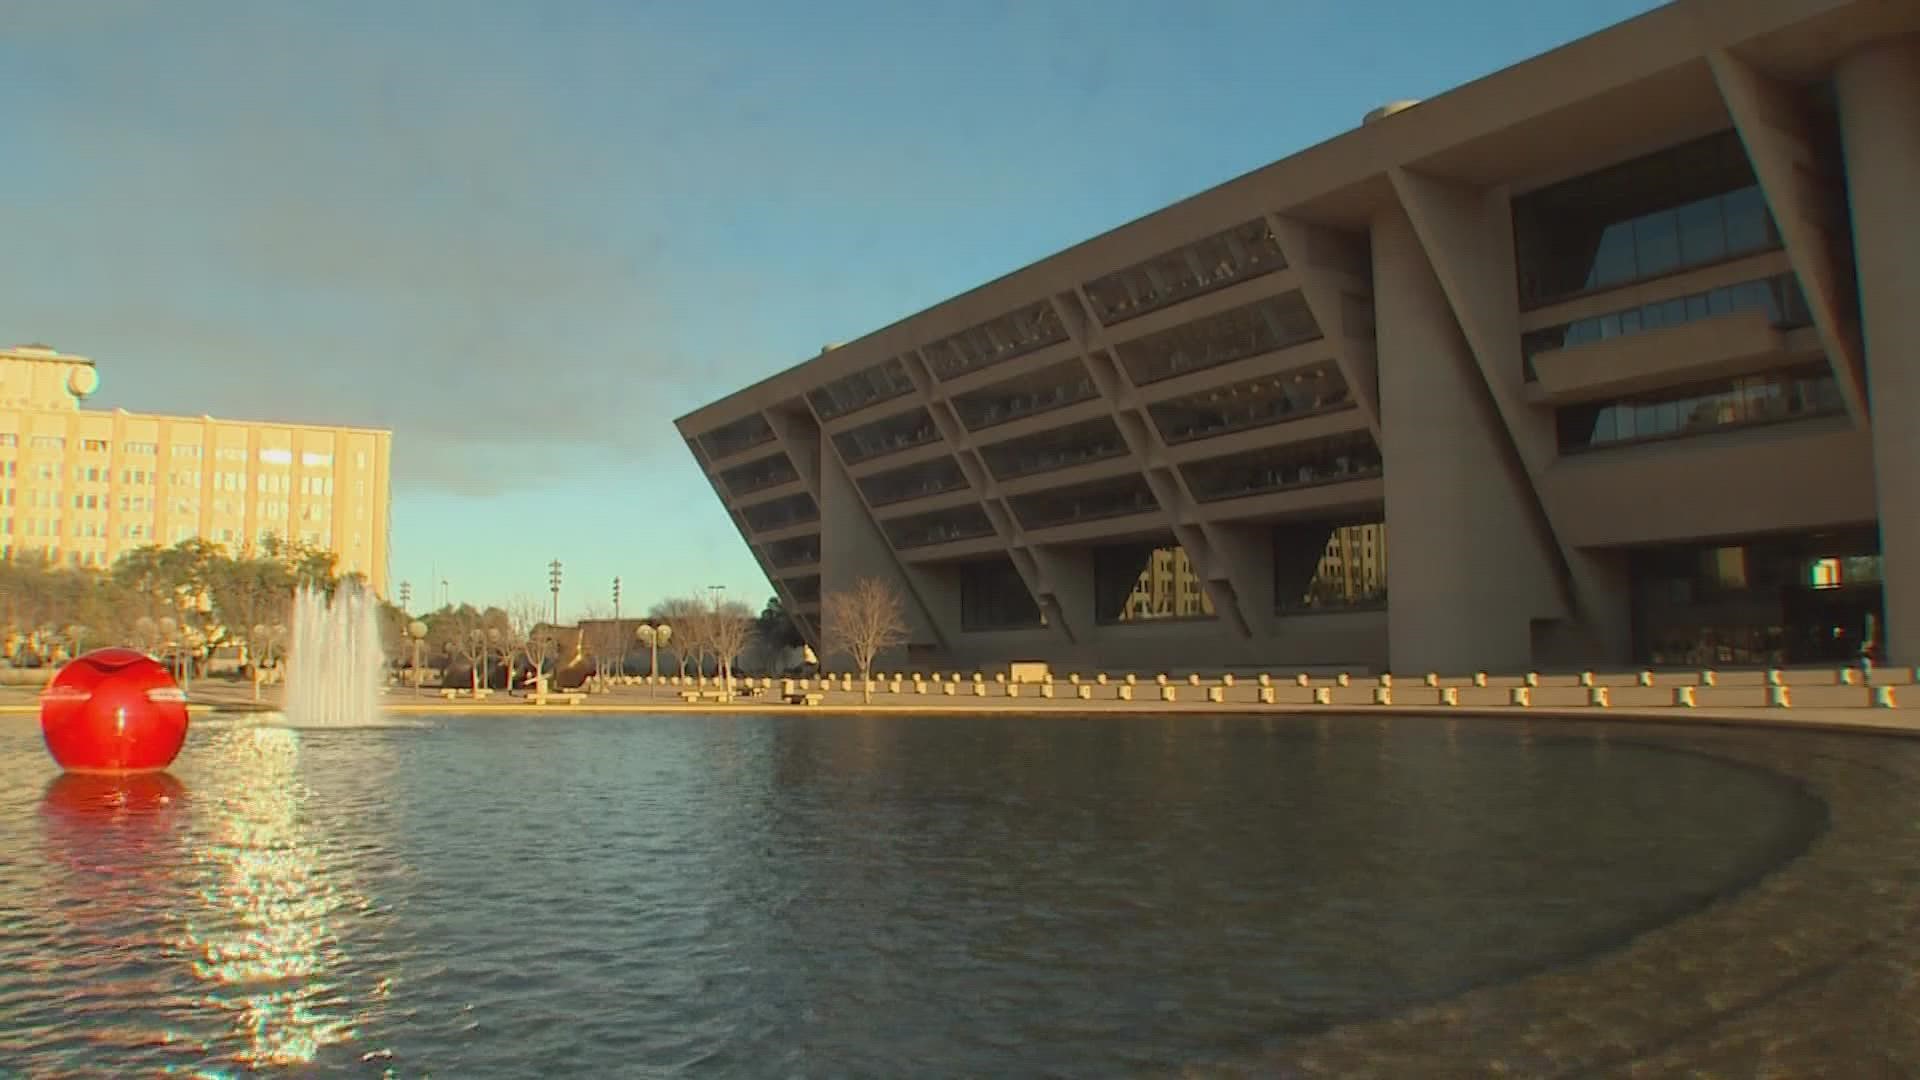
{"type": "Polygon", "coordinates": [[[1563,454],[1845,411],[1826,363],[1559,409],[1563,454]]]}

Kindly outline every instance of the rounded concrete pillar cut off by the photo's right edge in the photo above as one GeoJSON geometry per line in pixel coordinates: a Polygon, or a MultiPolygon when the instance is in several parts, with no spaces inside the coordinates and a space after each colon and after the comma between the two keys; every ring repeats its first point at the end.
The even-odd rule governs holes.
{"type": "Polygon", "coordinates": [[[1887,661],[1920,663],[1920,35],[1841,61],[1839,131],[1874,415],[1887,661]]]}

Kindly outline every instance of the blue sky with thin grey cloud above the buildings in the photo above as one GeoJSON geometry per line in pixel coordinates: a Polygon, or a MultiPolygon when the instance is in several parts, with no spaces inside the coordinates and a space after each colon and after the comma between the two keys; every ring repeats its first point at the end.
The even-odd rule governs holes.
{"type": "Polygon", "coordinates": [[[768,586],[672,419],[1649,0],[0,0],[0,340],[394,429],[422,607],[768,586]]]}

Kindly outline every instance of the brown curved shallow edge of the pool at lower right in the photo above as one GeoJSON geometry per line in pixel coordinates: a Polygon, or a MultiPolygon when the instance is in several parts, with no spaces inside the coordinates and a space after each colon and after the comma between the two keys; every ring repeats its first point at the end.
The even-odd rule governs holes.
{"type": "Polygon", "coordinates": [[[1889,1020],[1920,1009],[1920,828],[1889,798],[1920,765],[1864,740],[1805,759],[1730,736],[1676,749],[1807,784],[1828,828],[1799,857],[1620,949],[1181,1074],[1791,1076],[1832,1074],[1836,1047],[1857,1074],[1920,1074],[1920,1026],[1889,1020]]]}

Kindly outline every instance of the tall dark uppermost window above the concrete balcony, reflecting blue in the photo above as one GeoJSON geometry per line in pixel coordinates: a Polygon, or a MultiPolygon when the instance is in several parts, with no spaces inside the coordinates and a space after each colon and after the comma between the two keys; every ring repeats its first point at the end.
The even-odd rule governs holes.
{"type": "Polygon", "coordinates": [[[1524,307],[1780,246],[1732,131],[1524,194],[1513,238],[1524,307]]]}

